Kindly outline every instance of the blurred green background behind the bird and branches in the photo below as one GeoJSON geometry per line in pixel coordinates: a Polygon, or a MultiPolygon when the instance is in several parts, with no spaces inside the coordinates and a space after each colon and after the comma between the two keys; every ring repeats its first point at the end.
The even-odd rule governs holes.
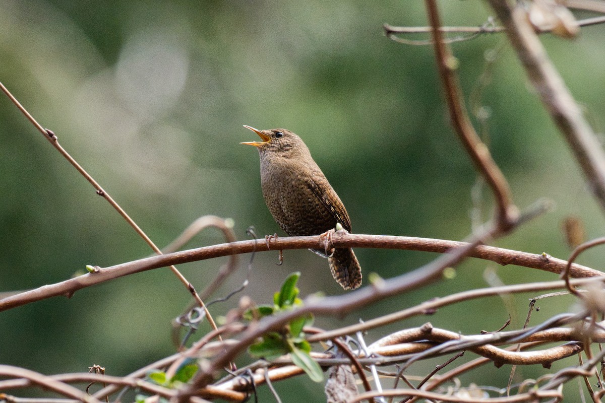
{"type": "MultiPolygon", "coordinates": [[[[440,7],[447,25],[481,25],[490,15],[481,1],[442,1],[440,7]]],[[[426,25],[422,2],[2,0],[0,80],[158,245],[204,214],[234,219],[240,239],[250,225],[261,237],[278,231],[261,196],[258,153],[239,144],[256,140],[242,124],[299,134],[347,206],[354,232],[463,239],[471,231],[476,172],[448,126],[433,49],[387,39],[385,22],[426,25]]],[[[453,45],[467,99],[486,56],[503,40],[482,36],[453,45]]],[[[584,28],[572,41],[549,35],[542,40],[600,131],[603,27],[584,28]]],[[[603,235],[603,212],[510,47],[502,48],[491,68],[482,105],[491,112],[489,144],[514,200],[523,208],[546,197],[557,206],[494,244],[565,259],[570,250],[563,219],[578,216],[587,236],[597,237],[603,235]]],[[[87,264],[147,256],[149,248],[110,205],[0,98],[0,292],[56,283],[87,264]]],[[[485,220],[491,199],[484,194],[485,220]]],[[[220,242],[220,233],[208,230],[189,247],[220,242]]],[[[356,253],[366,278],[370,272],[393,277],[436,257],[356,253]]],[[[601,254],[602,249],[589,251],[580,262],[601,268],[601,254]]],[[[243,294],[268,302],[295,270],[302,271],[302,295],[343,292],[327,262],[314,254],[287,251],[283,266],[275,265],[277,257],[255,257],[243,294]]],[[[240,269],[216,296],[241,284],[248,259],[241,257],[240,269]]],[[[201,289],[225,261],[181,269],[201,289]]],[[[316,324],[335,328],[480,288],[487,285],[486,269],[504,283],[556,279],[469,260],[454,279],[342,321],[318,318],[316,324]]],[[[532,296],[512,298],[512,312],[501,298],[471,301],[372,330],[367,341],[428,320],[471,334],[497,329],[510,313],[517,328],[532,296]]],[[[238,296],[214,305],[214,314],[225,314],[237,301],[238,296]]],[[[157,269],[83,289],[71,299],[0,312],[0,363],[43,373],[82,372],[100,364],[108,374],[125,375],[174,352],[170,321],[188,302],[171,272],[157,269]]],[[[532,323],[574,309],[574,300],[561,297],[543,305],[532,323]]],[[[463,359],[472,358],[468,353],[463,359]]],[[[442,361],[414,364],[408,373],[425,374],[442,361]]],[[[553,370],[573,364],[556,363],[553,370]]],[[[506,387],[509,370],[488,366],[462,382],[506,387]]],[[[537,378],[545,371],[522,368],[517,376],[537,378]]],[[[323,386],[304,377],[275,386],[284,401],[324,399],[323,386]]],[[[568,389],[577,393],[575,384],[568,389]]],[[[260,393],[270,398],[266,387],[260,393]]]]}

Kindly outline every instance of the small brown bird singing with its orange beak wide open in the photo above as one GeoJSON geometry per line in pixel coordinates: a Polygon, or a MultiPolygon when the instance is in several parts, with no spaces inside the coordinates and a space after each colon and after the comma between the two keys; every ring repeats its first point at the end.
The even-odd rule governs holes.
{"type": "MultiPolygon", "coordinates": [[[[263,141],[248,141],[261,157],[263,197],[275,221],[290,236],[319,235],[336,228],[351,231],[341,199],[317,166],[301,138],[286,129],[258,130],[263,141]]],[[[338,248],[327,257],[334,279],[344,289],[361,285],[361,266],[351,248],[338,248]]]]}

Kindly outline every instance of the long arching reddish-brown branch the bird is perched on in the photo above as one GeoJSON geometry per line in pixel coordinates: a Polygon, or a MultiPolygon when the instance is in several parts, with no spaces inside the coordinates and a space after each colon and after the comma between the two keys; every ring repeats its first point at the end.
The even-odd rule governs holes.
{"type": "MultiPolygon", "coordinates": [[[[278,237],[271,240],[269,246],[270,250],[321,249],[324,247],[324,242],[325,240],[320,236],[278,237]]],[[[449,253],[453,250],[459,250],[460,248],[468,248],[470,245],[466,242],[450,240],[407,236],[348,234],[345,231],[338,231],[333,234],[332,242],[335,247],[398,249],[435,253],[449,253]]],[[[57,297],[59,295],[71,297],[74,292],[79,289],[137,272],[179,263],[213,259],[215,257],[252,253],[253,251],[269,251],[269,248],[265,242],[243,240],[240,242],[221,243],[210,247],[201,247],[160,256],[146,257],[145,259],[121,263],[107,268],[99,268],[96,272],[2,298],[0,300],[0,311],[5,311],[7,309],[15,308],[16,306],[25,305],[45,298],[57,297]]],[[[564,260],[556,259],[544,253],[533,254],[485,245],[478,245],[474,250],[469,251],[467,254],[470,257],[491,260],[500,265],[525,266],[557,274],[563,272],[567,264],[564,260]]],[[[575,278],[594,277],[603,276],[603,272],[574,263],[574,265],[571,266],[569,275],[575,278]]]]}

